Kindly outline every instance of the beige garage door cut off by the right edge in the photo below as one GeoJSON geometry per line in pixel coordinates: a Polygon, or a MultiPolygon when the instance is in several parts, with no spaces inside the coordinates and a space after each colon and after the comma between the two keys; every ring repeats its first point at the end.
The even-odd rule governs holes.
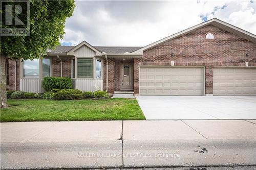
{"type": "Polygon", "coordinates": [[[256,69],[214,68],[214,95],[256,95],[256,69]]]}

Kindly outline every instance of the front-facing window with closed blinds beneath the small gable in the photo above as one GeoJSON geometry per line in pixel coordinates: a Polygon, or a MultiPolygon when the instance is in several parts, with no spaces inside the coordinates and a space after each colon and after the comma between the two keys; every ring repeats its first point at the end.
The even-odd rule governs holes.
{"type": "Polygon", "coordinates": [[[78,78],[93,77],[93,59],[92,58],[77,59],[77,77],[78,78]]]}

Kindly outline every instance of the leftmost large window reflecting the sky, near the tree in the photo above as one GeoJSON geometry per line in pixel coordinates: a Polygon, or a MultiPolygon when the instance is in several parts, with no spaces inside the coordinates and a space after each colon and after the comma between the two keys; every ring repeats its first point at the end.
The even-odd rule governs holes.
{"type": "Polygon", "coordinates": [[[25,78],[39,78],[39,59],[23,62],[23,76],[25,78]]]}

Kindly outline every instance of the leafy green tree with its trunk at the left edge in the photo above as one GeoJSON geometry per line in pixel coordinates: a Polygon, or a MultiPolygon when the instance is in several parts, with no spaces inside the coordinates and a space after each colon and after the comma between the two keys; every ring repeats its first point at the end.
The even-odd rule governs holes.
{"type": "Polygon", "coordinates": [[[32,60],[45,55],[48,48],[53,49],[59,45],[59,39],[63,39],[65,21],[72,16],[75,8],[74,0],[29,0],[28,3],[30,3],[30,36],[1,36],[1,108],[7,107],[6,57],[32,60]]]}

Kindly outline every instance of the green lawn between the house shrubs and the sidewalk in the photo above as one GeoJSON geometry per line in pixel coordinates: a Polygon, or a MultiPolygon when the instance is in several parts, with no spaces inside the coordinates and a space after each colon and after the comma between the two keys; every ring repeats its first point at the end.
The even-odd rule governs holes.
{"type": "Polygon", "coordinates": [[[1,109],[1,122],[145,119],[136,99],[8,100],[8,105],[1,109]]]}

